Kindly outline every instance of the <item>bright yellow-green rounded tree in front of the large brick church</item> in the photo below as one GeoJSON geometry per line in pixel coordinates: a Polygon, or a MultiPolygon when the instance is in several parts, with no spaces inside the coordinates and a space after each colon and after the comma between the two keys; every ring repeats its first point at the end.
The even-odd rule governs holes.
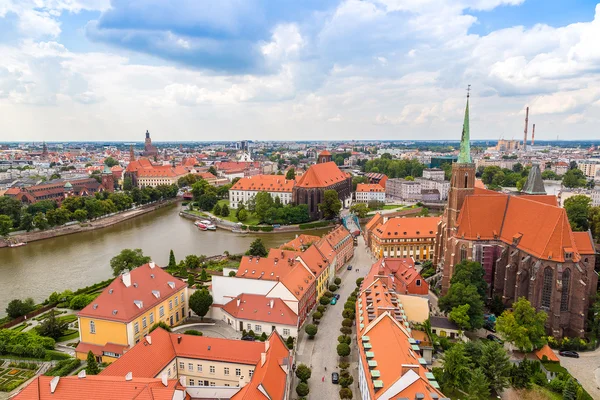
{"type": "Polygon", "coordinates": [[[544,325],[548,314],[536,312],[529,300],[519,298],[512,311],[506,310],[498,317],[496,330],[521,351],[533,351],[546,344],[544,325]]]}

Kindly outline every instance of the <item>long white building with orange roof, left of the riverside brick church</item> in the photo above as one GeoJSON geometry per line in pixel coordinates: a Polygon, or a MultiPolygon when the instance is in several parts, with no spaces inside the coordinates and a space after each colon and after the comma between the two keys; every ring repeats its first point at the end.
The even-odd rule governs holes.
{"type": "Polygon", "coordinates": [[[240,202],[248,204],[258,192],[268,192],[273,199],[279,197],[281,204],[292,202],[295,181],[281,175],[254,175],[241,178],[229,189],[229,205],[238,208],[240,202]]]}

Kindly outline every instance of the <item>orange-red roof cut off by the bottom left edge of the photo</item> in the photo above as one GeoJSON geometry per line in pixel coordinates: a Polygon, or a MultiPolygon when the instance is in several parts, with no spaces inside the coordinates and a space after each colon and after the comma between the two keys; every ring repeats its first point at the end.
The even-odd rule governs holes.
{"type": "Polygon", "coordinates": [[[58,380],[54,393],[50,390],[52,376],[38,376],[13,399],[15,400],[171,400],[175,392],[180,392],[182,399],[185,388],[177,380],[167,381],[163,385],[161,379],[138,378],[131,380],[123,376],[65,376],[58,380]]]}

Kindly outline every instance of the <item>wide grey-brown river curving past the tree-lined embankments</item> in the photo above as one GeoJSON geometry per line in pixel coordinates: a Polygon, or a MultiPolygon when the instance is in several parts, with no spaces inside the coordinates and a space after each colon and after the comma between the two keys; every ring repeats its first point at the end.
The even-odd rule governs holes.
{"type": "MultiPolygon", "coordinates": [[[[173,249],[179,261],[188,254],[217,255],[245,252],[258,235],[239,235],[224,230],[199,231],[191,220],[179,217],[172,205],[108,228],[31,242],[27,246],[0,249],[0,316],[8,302],[33,297],[43,301],[52,292],[75,290],[112,276],[110,259],[122,249],[143,250],[161,266],[173,249]]],[[[323,234],[325,231],[303,233],[323,234]]],[[[276,247],[296,233],[260,235],[265,246],[276,247]]]]}

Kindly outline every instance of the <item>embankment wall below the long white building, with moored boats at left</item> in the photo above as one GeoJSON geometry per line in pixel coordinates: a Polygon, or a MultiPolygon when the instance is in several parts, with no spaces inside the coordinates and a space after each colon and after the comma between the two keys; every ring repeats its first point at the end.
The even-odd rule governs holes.
{"type": "Polygon", "coordinates": [[[281,234],[281,233],[293,233],[293,232],[306,232],[311,229],[333,228],[339,224],[339,222],[337,222],[337,221],[315,221],[315,222],[308,222],[306,224],[299,224],[299,225],[282,225],[278,228],[275,228],[271,225],[246,226],[246,225],[237,224],[235,222],[227,221],[227,220],[221,219],[219,217],[215,217],[214,215],[212,215],[211,213],[206,212],[206,211],[203,211],[203,214],[205,214],[206,216],[193,214],[193,213],[189,212],[188,210],[181,210],[179,212],[180,217],[183,217],[186,219],[191,219],[193,221],[209,219],[212,223],[215,224],[215,226],[217,228],[220,228],[220,229],[223,229],[226,231],[230,231],[233,233],[243,233],[243,234],[247,234],[247,233],[281,234]],[[327,224],[325,224],[326,222],[327,222],[327,224]],[[246,229],[244,229],[244,227],[246,229]]]}

